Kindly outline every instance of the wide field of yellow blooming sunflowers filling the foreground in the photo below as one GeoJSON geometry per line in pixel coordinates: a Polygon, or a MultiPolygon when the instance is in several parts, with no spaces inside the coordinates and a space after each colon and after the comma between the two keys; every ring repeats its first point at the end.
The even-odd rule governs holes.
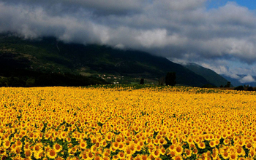
{"type": "Polygon", "coordinates": [[[0,88],[1,159],[255,159],[255,92],[0,88]]]}

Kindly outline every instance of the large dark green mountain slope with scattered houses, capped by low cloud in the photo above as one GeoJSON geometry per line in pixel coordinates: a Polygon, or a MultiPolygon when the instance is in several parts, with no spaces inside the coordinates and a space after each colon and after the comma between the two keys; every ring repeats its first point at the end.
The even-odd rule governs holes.
{"type": "MultiPolygon", "coordinates": [[[[0,76],[20,77],[25,74],[23,79],[31,81],[38,79],[40,73],[50,73],[54,74],[51,77],[89,76],[91,79],[98,78],[97,81],[101,78],[120,83],[139,81],[140,78],[156,82],[167,72],[176,72],[177,84],[193,87],[209,84],[203,76],[165,57],[97,44],[66,44],[53,37],[24,40],[10,34],[1,34],[0,64],[0,76]],[[34,76],[30,77],[31,74],[34,76]]],[[[58,85],[55,78],[51,81],[58,85]]]]}

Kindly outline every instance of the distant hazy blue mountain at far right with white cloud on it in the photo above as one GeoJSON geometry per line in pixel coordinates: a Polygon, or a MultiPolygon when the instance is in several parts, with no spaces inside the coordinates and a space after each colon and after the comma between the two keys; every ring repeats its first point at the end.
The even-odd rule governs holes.
{"type": "MultiPolygon", "coordinates": [[[[230,76],[225,76],[225,75],[221,75],[223,76],[225,79],[227,79],[227,81],[230,81],[231,84],[233,84],[234,87],[238,87],[238,86],[244,86],[244,85],[249,85],[252,87],[256,86],[256,81],[244,81],[245,77],[248,75],[236,75],[236,79],[231,78],[230,76]],[[242,83],[243,82],[243,83],[242,83]]],[[[252,79],[256,79],[256,76],[252,76],[252,79]]]]}

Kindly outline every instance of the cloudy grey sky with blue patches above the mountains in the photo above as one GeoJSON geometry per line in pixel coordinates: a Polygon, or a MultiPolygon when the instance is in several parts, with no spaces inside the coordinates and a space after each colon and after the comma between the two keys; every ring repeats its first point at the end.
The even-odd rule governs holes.
{"type": "Polygon", "coordinates": [[[0,33],[138,49],[244,83],[256,76],[255,0],[0,0],[0,33]]]}

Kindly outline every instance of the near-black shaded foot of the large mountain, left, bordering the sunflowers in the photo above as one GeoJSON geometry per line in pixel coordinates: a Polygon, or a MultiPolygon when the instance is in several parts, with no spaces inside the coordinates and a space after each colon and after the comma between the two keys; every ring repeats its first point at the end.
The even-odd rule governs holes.
{"type": "Polygon", "coordinates": [[[108,84],[103,79],[61,73],[40,73],[23,69],[0,70],[0,87],[53,87],[108,84]]]}

